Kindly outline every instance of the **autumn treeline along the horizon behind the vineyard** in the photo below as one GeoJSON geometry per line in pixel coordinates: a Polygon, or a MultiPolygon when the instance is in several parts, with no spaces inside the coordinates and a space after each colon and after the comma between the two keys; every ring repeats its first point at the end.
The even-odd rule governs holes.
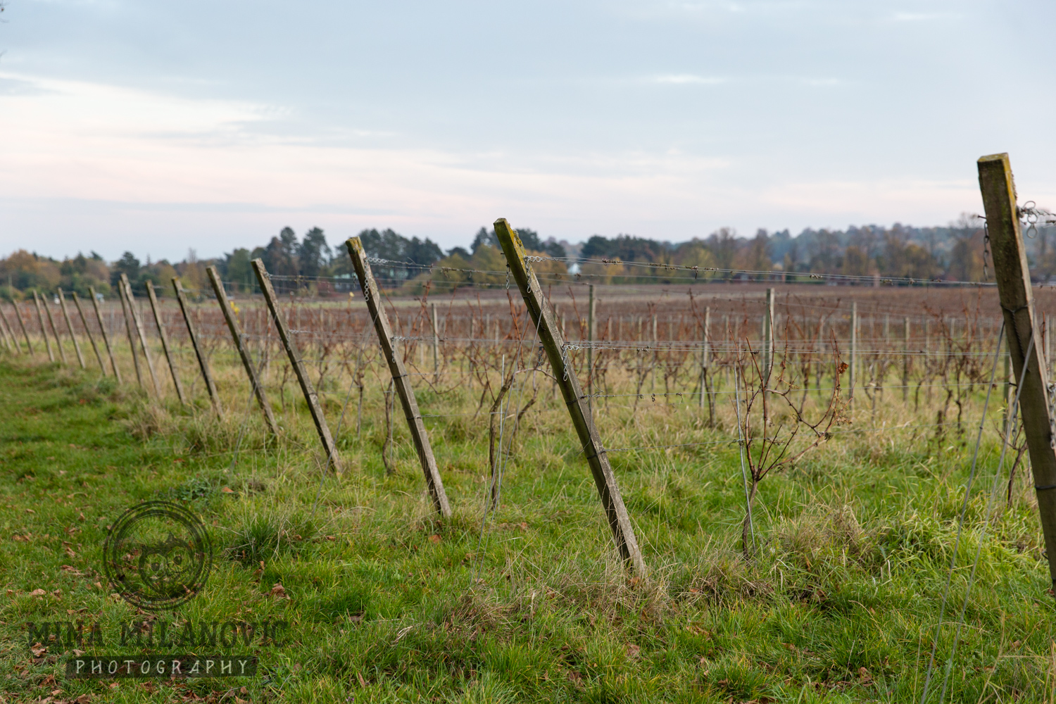
{"type": "MultiPolygon", "coordinates": [[[[681,243],[619,234],[593,235],[586,242],[570,244],[553,237],[542,240],[528,228],[517,232],[530,253],[545,258],[533,263],[538,271],[566,277],[589,274],[585,280],[598,283],[686,280],[684,270],[633,267],[619,262],[697,267],[694,278],[702,282],[774,280],[775,273],[784,273],[786,281],[810,281],[810,274],[917,281],[982,281],[984,275],[982,223],[967,215],[946,227],[868,225],[846,230],[805,229],[794,236],[788,230],[759,229],[754,236],[742,237],[732,228],[720,228],[706,237],[681,243]],[[730,270],[737,273],[731,274],[730,270]]],[[[1035,279],[1048,280],[1056,274],[1056,252],[1048,246],[1054,232],[1053,227],[1039,228],[1027,242],[1035,279]]],[[[468,247],[447,251],[429,237],[406,237],[391,229],[363,230],[359,236],[370,256],[410,265],[373,264],[375,277],[383,286],[409,287],[417,292],[432,282],[433,290],[450,290],[490,286],[506,278],[506,260],[493,230],[480,228],[468,247]]],[[[60,288],[89,296],[90,287],[109,296],[122,273],[136,292],[145,292],[146,285],[152,283],[159,296],[172,296],[171,280],[180,277],[185,288],[201,294],[209,287],[205,268],[210,265],[216,266],[230,292],[252,292],[256,283],[250,261],[258,258],[272,275],[291,278],[299,287],[316,294],[347,290],[342,281],[355,278],[343,243],[332,247],[318,227],[301,239],[285,227],[266,245],[253,249],[237,248],[211,260],[199,260],[190,250],[175,263],[151,262],[149,258],[140,262],[133,252],[106,262],[94,251],[58,261],[20,249],[0,260],[0,298],[19,301],[32,297],[34,290],[54,293],[60,288]]]]}

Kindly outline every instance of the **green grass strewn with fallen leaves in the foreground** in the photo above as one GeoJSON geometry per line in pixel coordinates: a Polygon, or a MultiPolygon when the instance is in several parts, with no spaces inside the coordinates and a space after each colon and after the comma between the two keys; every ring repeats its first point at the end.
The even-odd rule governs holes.
{"type": "MultiPolygon", "coordinates": [[[[314,511],[319,454],[302,426],[269,443],[250,413],[232,469],[241,404],[220,423],[128,388],[0,363],[4,701],[53,690],[115,702],[920,700],[967,473],[962,438],[840,436],[767,478],[753,560],[739,545],[735,449],[616,454],[650,569],[639,579],[616,558],[560,408],[522,429],[503,506],[482,532],[485,420],[429,423],[451,519],[432,516],[406,429],[385,475],[376,405],[361,440],[342,432],[346,471],[322,483],[314,511]],[[207,588],[163,617],[289,623],[286,647],[252,648],[258,677],[112,687],[64,680],[61,644],[30,652],[26,622],[74,619],[110,636],[90,652],[138,651],[112,638],[136,613],[111,595],[100,551],[116,516],[151,498],[200,513],[216,550],[207,588]],[[289,598],[271,594],[277,584],[289,598]]],[[[657,437],[712,433],[684,405],[643,418],[657,437]]],[[[984,443],[982,476],[997,452],[984,443]]],[[[1023,487],[982,541],[947,701],[1054,701],[1056,603],[1023,487]]],[[[961,566],[980,545],[984,505],[977,492],[961,566]]],[[[953,582],[955,620],[966,572],[953,582]]],[[[950,628],[939,642],[940,681],[951,639],[950,628]]]]}

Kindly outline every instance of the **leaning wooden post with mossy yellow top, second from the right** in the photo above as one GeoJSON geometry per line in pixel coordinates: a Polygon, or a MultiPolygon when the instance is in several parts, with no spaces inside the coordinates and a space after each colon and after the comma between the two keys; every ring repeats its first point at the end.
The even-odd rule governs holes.
{"type": "Polygon", "coordinates": [[[513,280],[521,289],[532,322],[539,329],[540,341],[546,349],[547,357],[549,357],[554,379],[565,397],[565,404],[568,406],[572,425],[576,426],[580,442],[583,444],[583,454],[590,465],[590,473],[593,475],[595,484],[601,495],[601,502],[605,510],[605,516],[608,518],[609,528],[612,530],[616,546],[623,559],[630,563],[636,572],[644,574],[645,562],[642,559],[638,540],[635,538],[630,516],[623,505],[616,475],[608,462],[608,455],[602,445],[598,429],[595,427],[586,398],[583,396],[579,379],[576,377],[576,369],[568,361],[565,343],[558,331],[553,310],[543,297],[543,289],[535,278],[535,272],[528,266],[521,237],[517,236],[505,217],[495,221],[495,234],[503,246],[510,273],[513,274],[513,280]]]}

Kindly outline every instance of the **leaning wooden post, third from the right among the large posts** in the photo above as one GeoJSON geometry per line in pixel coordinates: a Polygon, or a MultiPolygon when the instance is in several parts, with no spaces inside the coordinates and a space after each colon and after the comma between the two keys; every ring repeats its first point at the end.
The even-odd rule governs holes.
{"type": "Polygon", "coordinates": [[[418,452],[418,461],[421,462],[421,472],[426,476],[426,487],[429,495],[433,499],[433,506],[442,516],[451,515],[451,505],[448,503],[447,492],[444,491],[444,479],[440,477],[440,470],[436,467],[436,458],[433,456],[433,446],[429,442],[429,433],[426,431],[426,423],[421,420],[421,413],[418,411],[418,401],[414,397],[414,388],[408,380],[407,368],[403,366],[403,359],[396,354],[393,344],[392,328],[389,325],[389,316],[381,305],[381,293],[378,285],[374,281],[374,273],[371,265],[366,261],[366,251],[359,237],[350,237],[345,242],[348,248],[348,255],[352,258],[352,266],[356,269],[356,277],[359,279],[359,286],[363,290],[363,300],[366,301],[366,309],[374,321],[374,329],[377,330],[378,341],[381,343],[381,351],[389,363],[389,372],[393,377],[393,385],[399,396],[400,405],[403,406],[403,416],[407,418],[407,426],[411,431],[411,438],[414,440],[414,448],[418,452]]]}

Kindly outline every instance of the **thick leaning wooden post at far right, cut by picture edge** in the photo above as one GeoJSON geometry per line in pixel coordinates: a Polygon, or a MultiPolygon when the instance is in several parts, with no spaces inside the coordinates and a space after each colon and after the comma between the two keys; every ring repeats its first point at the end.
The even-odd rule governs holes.
{"type": "Polygon", "coordinates": [[[1019,407],[1031,471],[1034,473],[1041,531],[1045,538],[1049,576],[1053,589],[1056,589],[1056,418],[1049,405],[1049,370],[1044,366],[1039,340],[1034,337],[1034,296],[1026,248],[1019,230],[1016,186],[1007,154],[983,156],[978,166],[986,230],[994,252],[994,275],[1004,315],[1005,339],[1008,341],[1015,378],[1023,380],[1023,387],[1018,389],[1019,407]]]}

